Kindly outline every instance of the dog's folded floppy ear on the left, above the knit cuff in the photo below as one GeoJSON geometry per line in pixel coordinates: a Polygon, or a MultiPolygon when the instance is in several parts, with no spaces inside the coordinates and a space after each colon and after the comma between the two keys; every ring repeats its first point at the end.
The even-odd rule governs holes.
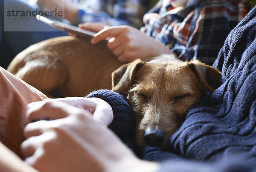
{"type": "Polygon", "coordinates": [[[128,96],[135,73],[144,65],[141,59],[122,65],[112,73],[112,91],[128,96]]]}

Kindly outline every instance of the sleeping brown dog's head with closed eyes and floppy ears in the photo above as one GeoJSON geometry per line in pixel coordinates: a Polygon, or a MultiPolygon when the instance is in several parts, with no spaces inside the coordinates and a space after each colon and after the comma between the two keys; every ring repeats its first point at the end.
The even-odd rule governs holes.
{"type": "Polygon", "coordinates": [[[220,84],[217,69],[171,55],[150,62],[137,59],[112,73],[112,90],[128,96],[134,107],[137,143],[164,149],[189,107],[220,84]]]}

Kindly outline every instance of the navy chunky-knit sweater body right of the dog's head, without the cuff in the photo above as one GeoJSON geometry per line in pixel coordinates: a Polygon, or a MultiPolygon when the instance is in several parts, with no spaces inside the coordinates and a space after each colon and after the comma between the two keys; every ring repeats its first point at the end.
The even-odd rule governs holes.
{"type": "Polygon", "coordinates": [[[171,144],[186,158],[244,153],[256,162],[256,8],[228,35],[214,66],[221,86],[189,109],[171,144]]]}

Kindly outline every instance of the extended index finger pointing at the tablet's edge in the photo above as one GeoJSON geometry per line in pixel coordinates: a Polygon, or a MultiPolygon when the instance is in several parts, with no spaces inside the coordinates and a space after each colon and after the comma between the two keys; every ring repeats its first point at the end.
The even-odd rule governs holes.
{"type": "Polygon", "coordinates": [[[117,37],[122,34],[122,31],[123,28],[118,26],[104,28],[94,35],[93,39],[91,39],[91,43],[96,44],[108,37],[117,37]]]}

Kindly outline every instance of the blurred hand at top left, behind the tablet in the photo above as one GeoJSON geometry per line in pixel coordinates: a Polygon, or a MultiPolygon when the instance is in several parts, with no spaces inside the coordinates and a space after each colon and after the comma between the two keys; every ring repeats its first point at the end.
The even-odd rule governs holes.
{"type": "MultiPolygon", "coordinates": [[[[76,15],[79,9],[71,0],[37,0],[37,4],[44,11],[55,11],[56,8],[57,11],[62,11],[62,15],[71,23],[76,21],[76,15]]],[[[55,13],[52,15],[55,15],[55,13]]],[[[58,16],[58,12],[56,15],[58,16]]]]}

